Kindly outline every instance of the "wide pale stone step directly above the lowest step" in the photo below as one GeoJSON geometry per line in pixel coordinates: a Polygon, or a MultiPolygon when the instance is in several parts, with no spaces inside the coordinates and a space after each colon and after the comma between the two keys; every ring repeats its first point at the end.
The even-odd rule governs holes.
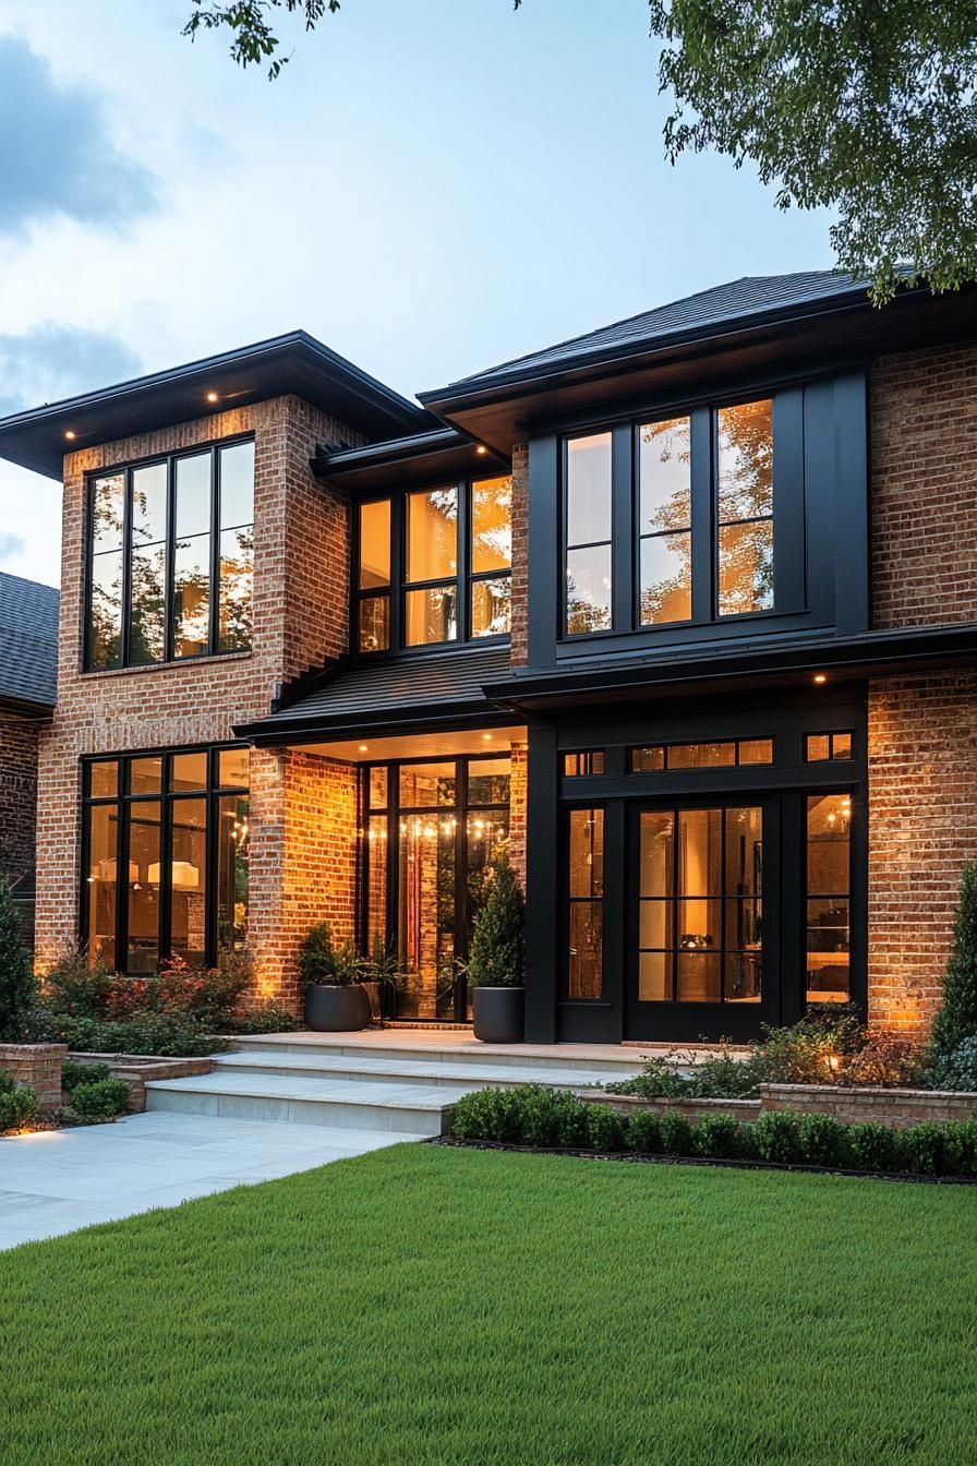
{"type": "MultiPolygon", "coordinates": [[[[258,1075],[311,1075],[318,1079],[359,1079],[379,1080],[387,1085],[425,1085],[428,1088],[491,1089],[513,1088],[516,1085],[551,1085],[555,1089],[587,1089],[606,1083],[608,1078],[624,1078],[620,1070],[608,1075],[592,1066],[545,1067],[536,1061],[526,1060],[524,1064],[488,1064],[472,1063],[469,1058],[453,1057],[439,1060],[438,1056],[400,1054],[388,1056],[388,1051],[356,1054],[346,1057],[328,1050],[309,1048],[296,1054],[283,1050],[253,1048],[243,1053],[220,1054],[214,1058],[215,1070],[220,1073],[250,1073],[258,1075]]],[[[640,1066],[634,1066],[637,1073],[640,1066]]]]}

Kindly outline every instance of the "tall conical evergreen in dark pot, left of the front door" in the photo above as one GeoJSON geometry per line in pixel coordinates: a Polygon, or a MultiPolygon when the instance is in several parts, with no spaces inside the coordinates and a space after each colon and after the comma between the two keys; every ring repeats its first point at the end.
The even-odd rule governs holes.
{"type": "Polygon", "coordinates": [[[501,855],[469,959],[475,1036],[483,1044],[521,1044],[524,981],[526,902],[508,856],[501,855]]]}

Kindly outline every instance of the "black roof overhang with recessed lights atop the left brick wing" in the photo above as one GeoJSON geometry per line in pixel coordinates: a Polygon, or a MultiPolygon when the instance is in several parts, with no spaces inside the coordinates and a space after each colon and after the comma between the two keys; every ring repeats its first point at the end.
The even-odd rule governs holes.
{"type": "Polygon", "coordinates": [[[64,453],[289,394],[369,438],[429,430],[438,421],[306,331],[290,331],[13,413],[0,421],[0,457],[60,479],[64,453]],[[209,391],[217,402],[207,400],[209,391]]]}

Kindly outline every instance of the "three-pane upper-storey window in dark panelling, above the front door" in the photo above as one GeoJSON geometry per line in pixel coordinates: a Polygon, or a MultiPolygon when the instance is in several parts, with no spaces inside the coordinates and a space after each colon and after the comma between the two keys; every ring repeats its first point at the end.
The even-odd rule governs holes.
{"type": "Polygon", "coordinates": [[[567,636],[775,610],[772,400],[567,438],[564,526],[567,636]]]}

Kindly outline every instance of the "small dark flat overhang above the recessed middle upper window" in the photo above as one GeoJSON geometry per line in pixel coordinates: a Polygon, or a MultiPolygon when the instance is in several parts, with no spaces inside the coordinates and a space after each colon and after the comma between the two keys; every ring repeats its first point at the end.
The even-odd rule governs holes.
{"type": "Polygon", "coordinates": [[[406,484],[508,474],[510,466],[507,454],[476,443],[467,432],[445,427],[366,447],[321,449],[311,459],[312,472],[321,484],[350,497],[406,484]]]}

